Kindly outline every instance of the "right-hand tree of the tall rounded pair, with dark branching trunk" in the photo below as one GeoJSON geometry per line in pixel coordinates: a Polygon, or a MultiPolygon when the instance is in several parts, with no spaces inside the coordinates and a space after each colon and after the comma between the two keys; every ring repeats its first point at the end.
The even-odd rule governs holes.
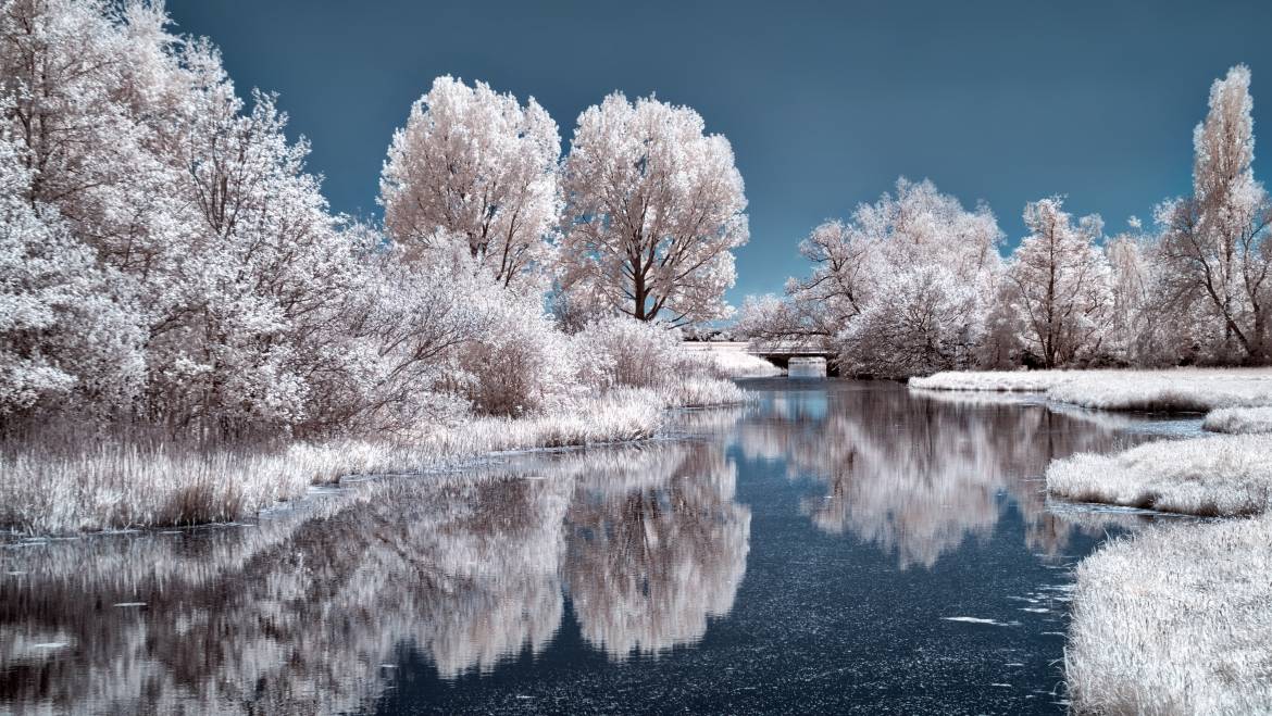
{"type": "Polygon", "coordinates": [[[725,318],[747,198],[733,149],[688,107],[611,94],[579,116],[565,163],[567,293],[641,320],[725,318]]]}

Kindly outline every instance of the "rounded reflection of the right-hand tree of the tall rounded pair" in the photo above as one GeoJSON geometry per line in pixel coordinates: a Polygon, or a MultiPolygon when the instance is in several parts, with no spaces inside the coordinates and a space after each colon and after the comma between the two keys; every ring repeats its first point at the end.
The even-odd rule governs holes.
{"type": "Polygon", "coordinates": [[[747,571],[750,510],[719,448],[677,445],[674,469],[645,487],[604,473],[570,505],[566,581],[584,638],[614,659],[692,644],[733,608],[747,571]]]}

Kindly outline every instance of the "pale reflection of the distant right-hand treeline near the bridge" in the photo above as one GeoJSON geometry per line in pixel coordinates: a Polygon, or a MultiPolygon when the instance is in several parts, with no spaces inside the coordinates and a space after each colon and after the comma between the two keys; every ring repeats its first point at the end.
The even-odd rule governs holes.
{"type": "Polygon", "coordinates": [[[1019,506],[1033,549],[1058,554],[1074,529],[1098,529],[1049,513],[1042,482],[1053,458],[1133,440],[1122,422],[1084,417],[1019,397],[841,383],[773,394],[735,440],[749,459],[782,460],[790,478],[824,487],[801,505],[819,530],[875,543],[901,568],[930,568],[993,532],[1000,492],[1019,506]]]}

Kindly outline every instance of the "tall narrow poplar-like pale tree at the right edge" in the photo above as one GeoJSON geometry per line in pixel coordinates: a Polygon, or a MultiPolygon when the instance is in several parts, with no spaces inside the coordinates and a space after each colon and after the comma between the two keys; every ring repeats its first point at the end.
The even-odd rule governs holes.
{"type": "Polygon", "coordinates": [[[1179,303],[1213,315],[1217,359],[1266,362],[1272,318],[1272,202],[1254,179],[1250,71],[1238,65],[1210,89],[1193,131],[1193,196],[1158,207],[1160,254],[1179,303]]]}

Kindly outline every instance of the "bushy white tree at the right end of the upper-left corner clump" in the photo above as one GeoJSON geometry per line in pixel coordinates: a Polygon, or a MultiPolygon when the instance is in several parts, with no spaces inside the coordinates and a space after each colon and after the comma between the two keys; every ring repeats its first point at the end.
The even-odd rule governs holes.
{"type": "Polygon", "coordinates": [[[200,97],[178,191],[196,207],[170,252],[170,304],[153,329],[155,392],[197,396],[198,421],[291,425],[310,417],[314,359],[338,342],[337,310],[360,275],[354,244],[304,173],[304,142],[284,136],[273,98],[252,111],[200,97]]]}

